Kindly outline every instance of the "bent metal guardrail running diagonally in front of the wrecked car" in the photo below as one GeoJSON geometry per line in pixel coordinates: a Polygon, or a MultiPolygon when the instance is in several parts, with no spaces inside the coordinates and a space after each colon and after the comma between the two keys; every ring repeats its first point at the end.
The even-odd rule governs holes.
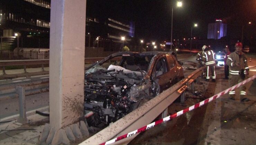
{"type": "MultiPolygon", "coordinates": [[[[125,117],[117,120],[115,123],[109,125],[105,129],[101,130],[97,134],[86,139],[79,145],[93,145],[101,144],[109,141],[112,138],[116,138],[120,135],[129,133],[144,125],[151,123],[159,114],[164,112],[169,105],[173,103],[179,96],[181,100],[184,100],[184,92],[188,88],[188,85],[193,84],[193,81],[198,78],[203,72],[205,67],[201,67],[192,72],[187,78],[184,78],[180,82],[173,85],[171,88],[163,91],[155,98],[149,100],[144,105],[135,109],[125,117]],[[192,81],[190,81],[192,80],[192,81]]],[[[162,115],[163,116],[163,115],[162,115]]],[[[163,116],[166,117],[166,116],[163,116]]],[[[128,138],[122,139],[119,142],[113,144],[128,144],[136,135],[131,135],[128,138]]]]}

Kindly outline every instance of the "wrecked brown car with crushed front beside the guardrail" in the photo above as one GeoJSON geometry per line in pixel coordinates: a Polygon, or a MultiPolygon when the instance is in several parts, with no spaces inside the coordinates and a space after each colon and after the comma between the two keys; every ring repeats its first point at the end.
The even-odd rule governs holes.
{"type": "Polygon", "coordinates": [[[183,78],[182,66],[168,52],[112,54],[85,69],[86,120],[104,127],[183,78]]]}

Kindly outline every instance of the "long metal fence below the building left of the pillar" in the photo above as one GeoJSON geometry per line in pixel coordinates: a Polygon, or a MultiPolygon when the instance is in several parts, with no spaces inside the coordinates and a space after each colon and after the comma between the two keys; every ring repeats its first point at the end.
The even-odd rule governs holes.
{"type": "Polygon", "coordinates": [[[49,51],[0,50],[0,60],[49,59],[49,51]]]}

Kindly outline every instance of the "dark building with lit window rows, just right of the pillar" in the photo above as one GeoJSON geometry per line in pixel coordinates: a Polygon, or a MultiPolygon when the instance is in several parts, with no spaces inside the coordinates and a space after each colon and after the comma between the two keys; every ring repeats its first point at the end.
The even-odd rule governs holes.
{"type": "Polygon", "coordinates": [[[134,23],[112,18],[98,19],[86,16],[86,47],[103,47],[105,51],[119,51],[134,37],[134,23]],[[122,41],[121,37],[125,37],[122,41]]]}

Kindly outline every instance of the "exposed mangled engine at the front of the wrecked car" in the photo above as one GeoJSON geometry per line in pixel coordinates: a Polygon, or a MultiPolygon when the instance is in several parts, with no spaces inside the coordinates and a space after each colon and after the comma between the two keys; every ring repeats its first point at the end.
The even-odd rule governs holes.
{"type": "Polygon", "coordinates": [[[85,110],[93,111],[87,119],[90,126],[104,126],[124,117],[133,110],[135,101],[130,99],[130,89],[139,80],[135,74],[124,74],[119,71],[100,70],[85,76],[85,110]],[[101,124],[103,123],[103,124],[101,124]],[[101,124],[101,125],[100,125],[101,124]]]}

